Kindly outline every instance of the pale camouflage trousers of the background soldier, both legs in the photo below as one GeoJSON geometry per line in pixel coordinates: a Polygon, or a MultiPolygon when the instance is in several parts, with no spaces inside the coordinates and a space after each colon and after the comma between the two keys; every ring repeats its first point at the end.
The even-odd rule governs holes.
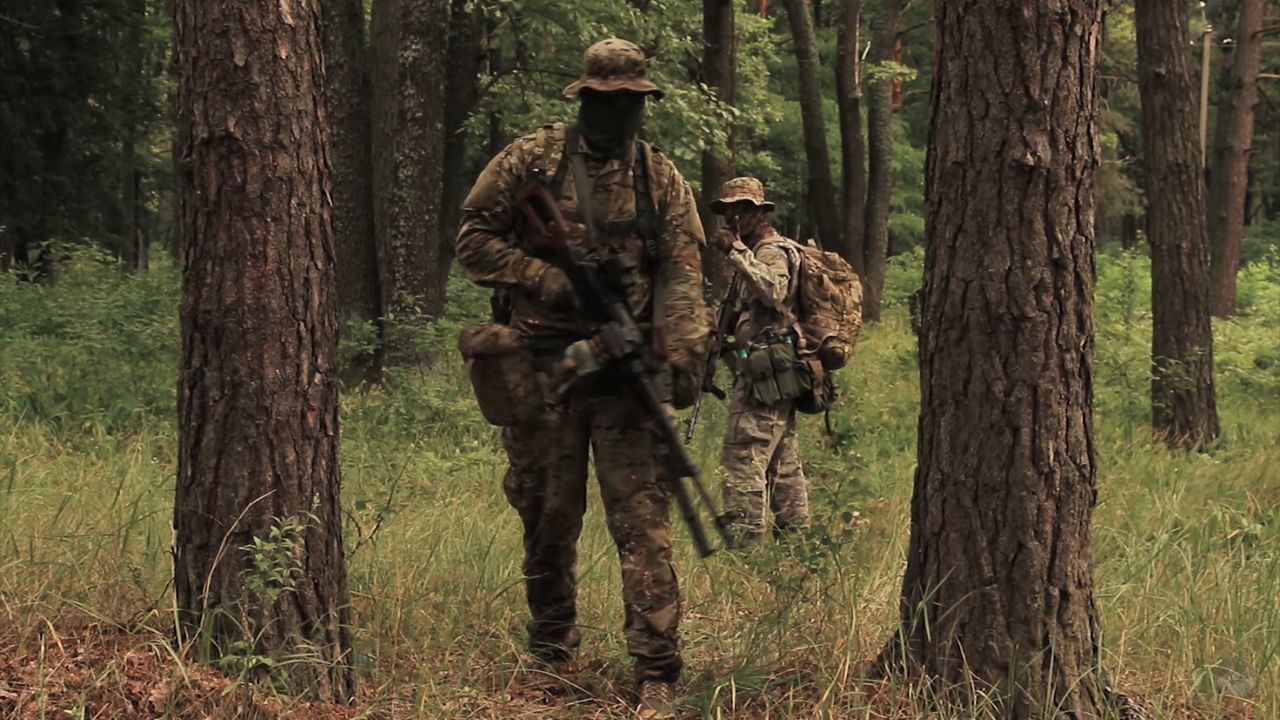
{"type": "Polygon", "coordinates": [[[796,451],[795,402],[759,407],[748,398],[745,384],[733,386],[718,471],[723,516],[744,544],[764,534],[765,509],[773,512],[776,532],[809,525],[809,484],[796,451]]]}

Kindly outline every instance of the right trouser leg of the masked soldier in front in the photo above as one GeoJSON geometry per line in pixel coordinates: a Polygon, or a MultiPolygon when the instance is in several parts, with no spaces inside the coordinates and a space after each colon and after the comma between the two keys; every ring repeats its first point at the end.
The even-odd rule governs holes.
{"type": "Polygon", "coordinates": [[[680,676],[680,585],[671,562],[671,491],[658,441],[631,398],[604,398],[591,421],[595,474],[622,565],[623,633],[637,682],[680,676]]]}

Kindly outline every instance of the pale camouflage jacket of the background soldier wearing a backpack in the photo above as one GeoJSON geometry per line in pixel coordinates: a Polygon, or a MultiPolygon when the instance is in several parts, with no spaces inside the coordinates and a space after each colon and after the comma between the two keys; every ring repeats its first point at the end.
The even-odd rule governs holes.
{"type": "Polygon", "coordinates": [[[800,268],[800,254],[792,242],[769,228],[754,247],[742,241],[733,243],[728,252],[728,264],[737,275],[737,322],[733,324],[733,340],[739,347],[745,347],[765,331],[783,334],[791,331],[780,307],[796,315],[796,270],[800,268]]]}

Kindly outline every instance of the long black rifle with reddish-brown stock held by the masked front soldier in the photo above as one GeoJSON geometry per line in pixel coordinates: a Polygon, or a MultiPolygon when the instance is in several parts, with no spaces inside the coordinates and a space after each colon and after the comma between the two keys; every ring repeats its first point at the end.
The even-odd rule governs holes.
{"type": "MultiPolygon", "coordinates": [[[[698,477],[698,468],[685,454],[680,445],[680,438],[671,418],[663,407],[658,391],[654,388],[645,357],[644,333],[635,322],[630,302],[626,295],[617,290],[621,279],[617,278],[618,268],[588,256],[581,249],[567,242],[568,223],[559,211],[559,205],[552,196],[547,183],[539,177],[527,179],[516,191],[516,204],[525,223],[522,237],[529,247],[539,256],[547,258],[553,264],[564,270],[573,292],[579,300],[579,307],[586,313],[590,320],[600,325],[600,333],[591,338],[590,345],[602,355],[602,364],[611,368],[620,368],[631,380],[631,387],[639,396],[641,406],[648,413],[649,419],[658,429],[658,439],[662,443],[666,471],[671,477],[671,491],[680,507],[680,514],[692,536],[694,547],[698,555],[707,557],[714,550],[707,541],[698,511],[694,509],[692,498],[681,482],[689,478],[690,484],[698,491],[703,503],[713,514],[716,505],[698,477]]],[[[590,229],[590,223],[588,223],[590,229]]],[[[716,529],[721,538],[728,543],[728,534],[723,521],[717,516],[716,529]]]]}

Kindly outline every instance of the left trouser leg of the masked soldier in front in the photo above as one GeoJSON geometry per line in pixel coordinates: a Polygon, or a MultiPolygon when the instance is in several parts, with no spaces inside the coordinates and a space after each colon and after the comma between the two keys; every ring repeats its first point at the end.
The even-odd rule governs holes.
{"type": "Polygon", "coordinates": [[[548,410],[530,427],[504,428],[507,501],[525,525],[525,594],[529,648],[564,660],[581,638],[573,562],[586,510],[588,432],[580,414],[548,410]]]}

